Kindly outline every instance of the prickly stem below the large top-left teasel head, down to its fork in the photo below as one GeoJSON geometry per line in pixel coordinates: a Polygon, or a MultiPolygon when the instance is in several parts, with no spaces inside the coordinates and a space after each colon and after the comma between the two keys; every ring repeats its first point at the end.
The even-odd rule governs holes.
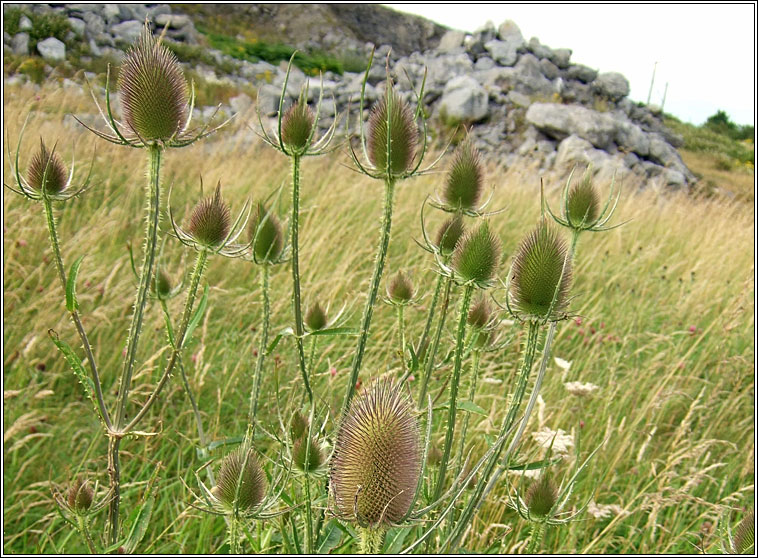
{"type": "MultiPolygon", "coordinates": [[[[148,206],[147,224],[145,228],[145,256],[140,269],[139,287],[134,301],[132,323],[129,326],[129,338],[126,346],[124,368],[121,372],[121,385],[118,389],[118,401],[116,403],[116,415],[114,422],[116,429],[121,430],[124,425],[126,405],[129,401],[129,388],[134,373],[134,361],[137,357],[139,336],[142,332],[142,318],[145,312],[147,296],[150,291],[150,281],[153,277],[153,265],[155,264],[155,252],[158,245],[158,223],[160,221],[160,172],[161,155],[163,148],[154,143],[148,147],[148,206]]],[[[113,541],[115,543],[115,541],[113,541]]]]}

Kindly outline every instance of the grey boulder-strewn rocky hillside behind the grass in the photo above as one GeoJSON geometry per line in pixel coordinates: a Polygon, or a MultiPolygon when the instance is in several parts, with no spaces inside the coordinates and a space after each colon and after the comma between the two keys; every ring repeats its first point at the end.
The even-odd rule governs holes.
{"type": "MultiPolygon", "coordinates": [[[[314,76],[322,68],[322,114],[344,113],[351,100],[355,110],[363,78],[358,68],[376,45],[379,63],[368,77],[369,101],[384,90],[381,61],[388,54],[408,99],[413,93],[406,76],[418,87],[426,71],[424,102],[433,123],[448,131],[465,125],[480,150],[504,167],[529,165],[562,177],[576,164],[592,164],[603,179],[615,173],[640,185],[688,187],[696,180],[676,150],[681,138],[654,109],[628,99],[623,75],[574,62],[570,49],[526,40],[512,21],[467,34],[366,5],[5,4],[4,11],[4,52],[41,57],[48,73],[72,64],[74,56],[118,60],[147,16],[154,32],[167,28],[167,42],[201,79],[250,93],[224,103],[222,112],[232,114],[250,111],[252,89],[261,112],[275,114],[282,59],[293,46],[306,51],[299,59],[305,71],[293,71],[288,96],[294,98],[307,81],[311,99],[317,98],[322,85],[314,76]],[[57,36],[41,37],[38,22],[45,14],[63,22],[57,36]],[[9,28],[11,20],[15,27],[9,28]],[[288,46],[283,37],[289,37],[288,46]],[[341,62],[334,53],[351,53],[360,64],[343,63],[347,59],[341,62]]],[[[24,79],[23,73],[8,79],[24,79]]],[[[212,111],[199,108],[201,116],[212,111]]],[[[322,122],[329,124],[330,118],[322,122]]]]}

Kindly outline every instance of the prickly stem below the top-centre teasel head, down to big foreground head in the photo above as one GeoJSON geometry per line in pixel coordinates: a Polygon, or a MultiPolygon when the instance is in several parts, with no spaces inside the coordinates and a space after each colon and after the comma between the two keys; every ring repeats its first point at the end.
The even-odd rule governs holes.
{"type": "Polygon", "coordinates": [[[361,321],[361,333],[358,336],[358,345],[353,357],[353,368],[350,373],[350,379],[345,391],[345,400],[342,403],[342,415],[347,414],[350,408],[350,401],[355,394],[355,384],[358,381],[358,373],[361,371],[363,363],[363,353],[366,350],[366,340],[368,339],[369,328],[371,327],[371,317],[374,313],[374,303],[376,295],[379,292],[379,283],[382,280],[384,271],[384,261],[387,257],[387,248],[390,243],[390,229],[392,228],[392,203],[395,194],[395,179],[391,176],[384,180],[384,213],[382,217],[382,232],[379,240],[379,249],[376,254],[376,263],[374,264],[374,275],[371,278],[368,299],[366,306],[363,308],[363,320],[361,321]]]}

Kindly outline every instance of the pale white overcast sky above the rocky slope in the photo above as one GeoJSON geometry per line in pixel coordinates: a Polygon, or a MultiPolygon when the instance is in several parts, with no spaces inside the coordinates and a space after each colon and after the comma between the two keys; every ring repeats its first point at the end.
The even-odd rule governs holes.
{"type": "Polygon", "coordinates": [[[573,50],[572,62],[620,72],[629,96],[701,124],[725,110],[738,124],[755,122],[755,7],[751,4],[385,4],[447,27],[475,31],[513,20],[524,39],[573,50]]]}

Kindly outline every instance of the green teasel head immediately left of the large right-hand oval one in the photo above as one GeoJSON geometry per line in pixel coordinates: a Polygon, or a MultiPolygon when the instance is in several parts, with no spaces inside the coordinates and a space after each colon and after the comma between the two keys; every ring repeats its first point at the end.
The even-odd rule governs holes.
{"type": "Polygon", "coordinates": [[[455,245],[453,269],[464,281],[483,286],[495,277],[500,257],[500,240],[483,221],[455,245]]]}

